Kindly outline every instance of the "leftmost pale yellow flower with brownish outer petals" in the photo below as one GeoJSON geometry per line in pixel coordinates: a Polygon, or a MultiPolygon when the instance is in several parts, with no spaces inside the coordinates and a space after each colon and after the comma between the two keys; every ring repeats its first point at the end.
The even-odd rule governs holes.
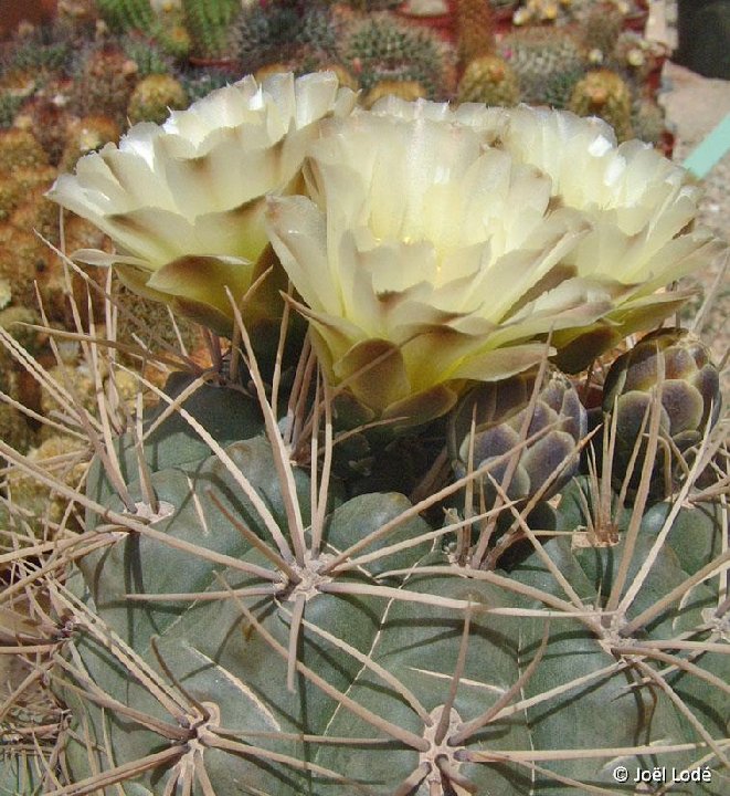
{"type": "Polygon", "coordinates": [[[212,92],[159,126],[137,124],[117,147],[83,157],[49,196],[112,238],[114,264],[137,292],[226,333],[267,238],[265,198],[300,189],[317,124],[347,114],[355,94],[331,73],[253,77],[212,92]]]}

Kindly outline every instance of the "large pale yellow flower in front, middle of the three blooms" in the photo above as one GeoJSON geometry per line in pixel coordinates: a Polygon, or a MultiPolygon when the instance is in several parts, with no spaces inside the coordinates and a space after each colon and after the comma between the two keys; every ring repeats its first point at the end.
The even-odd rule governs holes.
{"type": "MultiPolygon", "coordinates": [[[[271,237],[330,381],[373,415],[422,422],[465,381],[539,362],[551,329],[592,323],[611,295],[563,279],[590,226],[553,207],[547,176],[443,106],[384,107],[403,115],[322,125],[310,198],[269,200],[271,237]]],[[[474,108],[458,115],[476,126],[474,108]]]]}

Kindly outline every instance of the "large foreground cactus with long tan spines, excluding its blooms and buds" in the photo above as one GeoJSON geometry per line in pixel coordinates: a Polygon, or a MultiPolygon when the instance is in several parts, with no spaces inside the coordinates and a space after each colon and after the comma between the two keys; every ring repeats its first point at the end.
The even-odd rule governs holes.
{"type": "MultiPolygon", "coordinates": [[[[6,646],[44,651],[41,684],[68,727],[45,708],[59,729],[34,753],[63,766],[34,765],[13,741],[0,782],[45,793],[117,783],[222,796],[245,783],[281,796],[628,794],[633,783],[614,779],[625,765],[706,771],[691,793],[723,792],[719,504],[635,507],[607,527],[605,501],[582,479],[563,488],[547,538],[502,507],[527,547],[484,568],[495,509],[452,509],[440,524],[423,516],[436,492],[414,504],[342,495],[327,434],[316,420],[304,439],[298,423],[276,422],[242,334],[257,399],[230,364],[173,375],[135,419],[112,381],[104,425],[121,433],[102,443],[94,431],[104,453],[85,493],[0,443],[13,468],[85,510],[81,531],[62,525],[53,544],[11,554],[21,568],[36,562],[31,580],[51,607],[31,601],[6,646]]],[[[65,421],[92,422],[71,400],[65,421]]],[[[320,420],[330,408],[309,404],[320,420]]],[[[19,510],[4,509],[17,527],[19,510]]],[[[18,737],[32,721],[14,718],[18,737]]]]}

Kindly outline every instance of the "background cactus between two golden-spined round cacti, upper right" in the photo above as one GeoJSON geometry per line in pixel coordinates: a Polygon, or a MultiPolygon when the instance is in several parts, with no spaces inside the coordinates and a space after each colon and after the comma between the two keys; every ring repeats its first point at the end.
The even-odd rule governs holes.
{"type": "Polygon", "coordinates": [[[516,30],[504,36],[499,54],[515,70],[522,102],[562,108],[585,73],[588,54],[568,31],[516,30]]]}

